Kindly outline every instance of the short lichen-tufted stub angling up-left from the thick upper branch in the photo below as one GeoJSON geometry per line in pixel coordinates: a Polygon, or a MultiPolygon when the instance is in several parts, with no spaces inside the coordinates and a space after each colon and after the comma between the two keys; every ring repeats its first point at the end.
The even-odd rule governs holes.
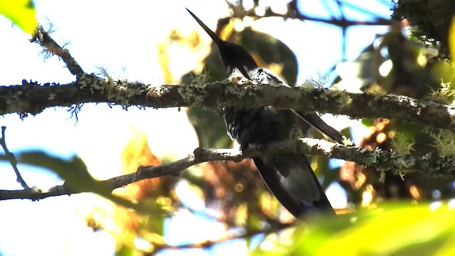
{"type": "Polygon", "coordinates": [[[73,58],[73,56],[71,56],[70,52],[59,46],[57,42],[50,38],[49,33],[44,31],[42,26],[38,26],[36,28],[36,31],[30,41],[31,43],[38,43],[45,49],[45,51],[58,55],[58,57],[65,62],[71,74],[79,76],[84,73],[84,70],[82,70],[77,61],[73,58]]]}

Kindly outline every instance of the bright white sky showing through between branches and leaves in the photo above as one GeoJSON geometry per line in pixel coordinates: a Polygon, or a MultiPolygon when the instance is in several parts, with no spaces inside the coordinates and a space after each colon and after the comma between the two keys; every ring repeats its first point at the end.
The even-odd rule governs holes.
{"type": "MultiPolygon", "coordinates": [[[[246,1],[245,1],[246,2],[246,1]]],[[[321,16],[321,1],[300,1],[306,14],[321,16]]],[[[373,2],[373,1],[368,1],[373,2]]],[[[358,4],[358,3],[355,3],[358,4]]],[[[225,1],[59,1],[37,0],[39,23],[48,28],[53,23],[52,37],[66,48],[87,73],[106,68],[113,78],[127,78],[159,85],[163,74],[157,60],[156,44],[164,41],[173,28],[190,34],[200,28],[185,7],[197,14],[210,28],[218,18],[228,15],[225,1]]],[[[382,7],[381,7],[382,8],[382,7]]],[[[390,11],[370,6],[387,18],[390,11]]],[[[329,14],[325,14],[330,17],[329,14]]],[[[353,18],[365,18],[351,14],[353,18]]],[[[338,28],[321,23],[272,19],[255,24],[259,31],[282,39],[299,56],[299,82],[310,75],[325,72],[341,58],[338,28]],[[298,35],[289,31],[299,31],[298,35]],[[336,47],[333,47],[336,46],[336,47]]],[[[18,85],[21,80],[38,82],[72,82],[64,63],[56,57],[43,61],[41,48],[28,42],[29,36],[11,26],[0,16],[2,40],[0,47],[0,85],[18,85]]],[[[385,28],[358,27],[348,31],[348,58],[373,41],[375,33],[385,28]]],[[[210,38],[203,40],[207,46],[210,38]]],[[[198,65],[198,58],[171,55],[171,68],[182,75],[198,65]]],[[[200,56],[199,56],[200,57],[200,56]]],[[[120,107],[85,105],[78,122],[65,109],[48,109],[36,117],[19,119],[16,114],[0,117],[6,126],[6,142],[10,151],[45,149],[51,154],[84,159],[97,178],[110,178],[119,173],[119,154],[134,129],[146,132],[149,144],[159,156],[181,158],[197,146],[196,135],[188,124],[185,112],[169,110],[137,110],[128,112],[120,107]],[[107,171],[111,170],[111,171],[107,171]]],[[[60,184],[55,175],[19,166],[31,186],[48,188],[60,184]]],[[[0,164],[0,188],[19,189],[11,166],[0,164]]],[[[184,184],[182,185],[184,186],[184,184]]],[[[83,213],[87,201],[98,202],[91,195],[62,196],[38,202],[0,201],[0,255],[112,255],[114,242],[107,233],[93,233],[85,227],[83,213]],[[81,210],[82,209],[82,210],[81,210]],[[26,241],[24,246],[23,241],[26,241]]],[[[193,199],[196,201],[196,199],[193,199]]],[[[224,229],[208,220],[193,217],[186,211],[167,223],[169,242],[197,242],[217,238],[224,229]],[[184,223],[192,223],[186,225],[184,223]],[[210,225],[206,225],[210,224],[210,225]],[[188,236],[182,230],[203,235],[188,236]],[[206,228],[203,228],[206,227],[206,228]],[[202,229],[203,228],[203,229],[202,229]],[[177,234],[181,233],[179,236],[177,234]]],[[[212,252],[223,255],[226,247],[237,255],[246,254],[245,242],[234,241],[215,247],[212,252]],[[240,253],[240,254],[239,254],[240,253]]],[[[200,251],[188,255],[200,255],[200,251]]],[[[163,255],[171,255],[164,252],[163,255]]]]}

